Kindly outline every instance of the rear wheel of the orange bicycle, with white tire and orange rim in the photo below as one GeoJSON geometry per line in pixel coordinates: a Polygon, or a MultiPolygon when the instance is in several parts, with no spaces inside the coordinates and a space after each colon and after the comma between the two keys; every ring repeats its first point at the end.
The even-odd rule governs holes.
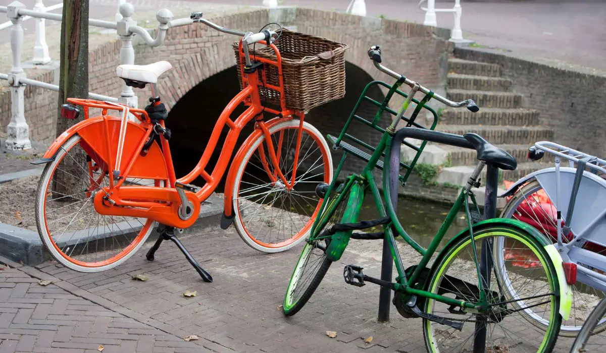
{"type": "MultiPolygon", "coordinates": [[[[93,269],[125,259],[150,233],[153,221],[96,213],[92,200],[108,185],[108,177],[100,173],[104,162],[94,162],[94,158],[87,162],[86,151],[92,149],[83,145],[79,136],[72,137],[48,165],[39,185],[37,204],[41,209],[36,218],[39,233],[59,255],[58,260],[93,269]]],[[[125,183],[154,182],[127,178],[125,183]]]]}

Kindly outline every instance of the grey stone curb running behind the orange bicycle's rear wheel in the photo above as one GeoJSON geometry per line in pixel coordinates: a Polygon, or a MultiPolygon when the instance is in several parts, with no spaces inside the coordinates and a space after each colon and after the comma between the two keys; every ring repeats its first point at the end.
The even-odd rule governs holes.
{"type": "MultiPolygon", "coordinates": [[[[190,228],[187,228],[186,231],[191,232],[213,223],[218,224],[219,216],[222,213],[223,196],[212,194],[207,200],[202,202],[198,220],[190,228]]],[[[107,234],[110,233],[106,233],[105,235],[107,234]]],[[[156,234],[152,232],[147,241],[155,242],[157,238],[156,234]]],[[[102,237],[104,237],[104,234],[101,234],[99,239],[102,239],[102,237]]],[[[72,239],[79,238],[72,237],[72,239]]],[[[70,245],[75,244],[76,242],[70,245]]],[[[59,246],[61,246],[61,243],[59,246]]],[[[44,244],[42,244],[42,240],[37,232],[5,223],[0,223],[0,256],[15,263],[28,266],[36,266],[47,260],[52,260],[52,256],[44,248],[44,244]]]]}

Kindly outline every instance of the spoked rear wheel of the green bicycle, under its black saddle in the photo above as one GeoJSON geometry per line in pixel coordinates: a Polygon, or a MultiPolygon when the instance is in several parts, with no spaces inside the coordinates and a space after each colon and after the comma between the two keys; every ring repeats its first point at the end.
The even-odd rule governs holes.
{"type": "MultiPolygon", "coordinates": [[[[500,269],[502,270],[502,268],[500,269]]],[[[443,250],[431,268],[427,291],[451,299],[476,303],[474,308],[459,308],[435,299],[425,299],[425,312],[462,323],[462,331],[424,319],[423,333],[428,352],[551,352],[562,322],[559,314],[559,282],[547,251],[533,236],[521,229],[496,226],[479,230],[472,242],[469,234],[459,237],[443,250]],[[538,262],[505,260],[506,284],[497,274],[491,247],[501,239],[508,249],[538,262]],[[491,267],[488,285],[480,285],[479,262],[482,255],[491,267]],[[505,286],[516,289],[518,297],[508,296],[505,286]],[[484,289],[481,300],[480,288],[484,289]],[[479,303],[480,305],[477,305],[479,303]],[[540,312],[548,323],[537,328],[525,320],[524,309],[540,312]]]]}

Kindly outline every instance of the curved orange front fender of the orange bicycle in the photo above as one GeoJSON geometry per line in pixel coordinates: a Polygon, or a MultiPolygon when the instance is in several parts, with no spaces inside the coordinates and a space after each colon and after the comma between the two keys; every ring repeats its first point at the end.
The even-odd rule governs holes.
{"type": "MultiPolygon", "coordinates": [[[[284,121],[292,120],[292,119],[293,119],[292,116],[275,117],[275,118],[265,122],[265,126],[267,127],[267,130],[270,130],[275,125],[277,125],[281,122],[284,122],[284,121]]],[[[240,163],[242,163],[242,159],[244,159],[244,156],[247,153],[247,151],[250,150],[250,148],[252,148],[253,142],[255,142],[255,140],[258,139],[259,136],[261,136],[262,134],[263,134],[263,131],[261,131],[261,129],[256,128],[255,131],[253,131],[253,133],[251,133],[250,136],[247,137],[247,139],[244,141],[244,143],[242,143],[242,146],[239,148],[238,153],[236,153],[236,156],[233,158],[233,162],[231,162],[231,167],[229,169],[229,172],[227,173],[227,179],[225,179],[225,197],[223,200],[223,217],[221,219],[221,228],[223,228],[223,229],[227,229],[227,227],[231,224],[231,221],[233,220],[233,216],[234,216],[231,204],[232,204],[232,198],[233,198],[233,183],[235,182],[235,179],[236,179],[236,173],[238,173],[238,166],[240,165],[240,163]]]]}

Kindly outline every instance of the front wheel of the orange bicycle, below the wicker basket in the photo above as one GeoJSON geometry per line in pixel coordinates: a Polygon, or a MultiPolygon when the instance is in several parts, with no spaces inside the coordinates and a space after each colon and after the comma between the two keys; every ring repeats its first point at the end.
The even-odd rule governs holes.
{"type": "MultiPolygon", "coordinates": [[[[272,144],[279,150],[279,165],[291,181],[298,125],[287,125],[271,133],[272,144]]],[[[253,153],[242,161],[244,170],[234,193],[235,212],[245,235],[264,248],[283,248],[302,239],[310,230],[322,203],[315,193],[320,182],[331,179],[330,152],[322,137],[303,128],[295,185],[287,190],[279,179],[273,183],[262,165],[261,154],[272,168],[264,139],[253,145],[253,153]],[[263,151],[261,151],[263,149],[263,151]]]]}

